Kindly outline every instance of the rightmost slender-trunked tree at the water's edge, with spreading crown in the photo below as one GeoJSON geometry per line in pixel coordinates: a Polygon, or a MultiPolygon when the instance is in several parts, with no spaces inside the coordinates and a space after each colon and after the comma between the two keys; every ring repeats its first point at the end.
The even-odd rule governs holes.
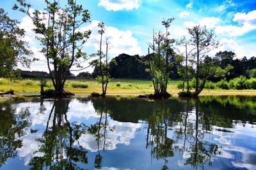
{"type": "Polygon", "coordinates": [[[212,66],[212,59],[205,55],[214,48],[217,48],[219,43],[215,40],[213,30],[207,30],[206,27],[196,25],[193,28],[188,28],[188,32],[191,36],[190,44],[195,46],[195,67],[196,67],[196,87],[193,96],[196,97],[204,89],[205,82],[209,78],[212,66]],[[200,81],[201,80],[201,81],[200,81]]]}

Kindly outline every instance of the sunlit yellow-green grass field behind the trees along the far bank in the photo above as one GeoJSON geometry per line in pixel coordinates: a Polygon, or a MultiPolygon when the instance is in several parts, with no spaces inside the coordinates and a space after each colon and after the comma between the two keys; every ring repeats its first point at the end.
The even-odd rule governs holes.
{"type": "MultiPolygon", "coordinates": [[[[177,95],[180,89],[177,88],[177,80],[171,80],[168,85],[168,92],[177,95]]],[[[5,92],[10,89],[15,90],[15,93],[38,94],[40,93],[40,80],[26,79],[10,81],[0,78],[0,92],[5,92]]],[[[51,80],[47,80],[46,89],[53,89],[51,80]]],[[[65,90],[74,94],[91,94],[92,92],[101,93],[101,84],[95,79],[69,79],[65,83],[65,90]],[[74,88],[76,87],[76,88],[74,88]],[[78,88],[77,88],[78,87],[78,88]],[[87,87],[87,88],[81,88],[87,87]]],[[[134,79],[113,79],[109,85],[107,94],[150,94],[153,93],[152,82],[150,80],[134,80],[134,79]]],[[[256,90],[222,90],[205,89],[200,94],[202,95],[253,95],[256,96],[256,90]]]]}

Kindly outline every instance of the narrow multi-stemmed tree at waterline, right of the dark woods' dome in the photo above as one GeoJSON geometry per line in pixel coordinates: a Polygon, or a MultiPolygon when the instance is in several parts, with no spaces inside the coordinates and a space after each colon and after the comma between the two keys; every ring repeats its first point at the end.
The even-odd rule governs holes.
{"type": "Polygon", "coordinates": [[[149,44],[153,53],[150,54],[148,48],[148,71],[152,77],[152,83],[154,85],[153,97],[170,97],[171,95],[167,92],[168,79],[170,77],[170,67],[172,67],[172,57],[174,55],[172,44],[173,39],[168,38],[170,32],[168,28],[174,18],[164,20],[162,23],[166,28],[166,33],[159,31],[156,34],[153,31],[152,43],[149,44]]]}

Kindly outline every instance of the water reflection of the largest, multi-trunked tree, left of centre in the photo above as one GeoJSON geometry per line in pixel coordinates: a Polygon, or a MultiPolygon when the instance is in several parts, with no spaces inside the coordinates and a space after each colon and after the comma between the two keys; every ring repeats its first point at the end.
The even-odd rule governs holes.
{"type": "Polygon", "coordinates": [[[54,100],[42,138],[36,139],[42,145],[29,163],[31,169],[80,169],[77,163],[88,163],[86,150],[79,145],[78,139],[85,132],[83,124],[67,119],[70,99],[54,100]],[[52,121],[52,125],[50,125],[52,121]],[[74,143],[78,146],[75,146],[74,143]]]}

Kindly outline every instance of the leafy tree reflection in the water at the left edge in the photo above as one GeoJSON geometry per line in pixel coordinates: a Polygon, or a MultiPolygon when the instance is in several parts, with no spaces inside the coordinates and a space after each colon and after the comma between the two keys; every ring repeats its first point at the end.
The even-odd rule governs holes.
{"type": "Polygon", "coordinates": [[[0,103],[0,167],[8,158],[17,156],[17,148],[22,147],[21,137],[26,135],[29,127],[29,108],[23,108],[18,114],[13,103],[0,103]]]}

